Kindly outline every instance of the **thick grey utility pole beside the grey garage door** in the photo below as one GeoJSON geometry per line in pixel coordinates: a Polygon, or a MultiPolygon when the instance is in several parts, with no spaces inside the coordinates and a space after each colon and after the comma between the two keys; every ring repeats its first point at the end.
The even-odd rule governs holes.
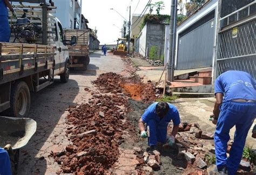
{"type": "Polygon", "coordinates": [[[169,35],[169,60],[167,62],[167,80],[174,81],[174,61],[176,48],[176,27],[177,27],[177,0],[172,0],[170,35],[169,35]]]}

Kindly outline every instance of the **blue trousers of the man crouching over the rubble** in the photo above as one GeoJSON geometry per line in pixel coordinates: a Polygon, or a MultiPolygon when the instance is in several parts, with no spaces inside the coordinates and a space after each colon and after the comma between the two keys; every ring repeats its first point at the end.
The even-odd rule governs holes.
{"type": "Polygon", "coordinates": [[[150,130],[150,137],[148,138],[150,146],[157,145],[157,142],[166,142],[167,124],[159,125],[155,120],[149,120],[147,125],[150,130]]]}

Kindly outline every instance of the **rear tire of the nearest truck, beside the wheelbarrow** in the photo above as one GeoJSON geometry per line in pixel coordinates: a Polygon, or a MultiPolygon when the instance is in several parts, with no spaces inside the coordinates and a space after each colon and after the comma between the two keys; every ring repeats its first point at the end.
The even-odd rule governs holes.
{"type": "Polygon", "coordinates": [[[30,91],[24,81],[17,81],[11,86],[10,115],[26,117],[30,108],[30,91]]]}

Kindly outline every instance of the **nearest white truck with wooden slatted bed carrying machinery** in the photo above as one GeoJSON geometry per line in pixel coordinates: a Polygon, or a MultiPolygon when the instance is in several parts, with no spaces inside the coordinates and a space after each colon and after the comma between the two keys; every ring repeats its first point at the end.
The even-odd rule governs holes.
{"type": "Polygon", "coordinates": [[[15,5],[17,19],[10,18],[13,43],[0,43],[0,112],[26,117],[30,92],[51,85],[56,75],[69,81],[70,59],[62,24],[53,15],[55,6],[15,5]],[[28,44],[29,43],[29,44],[28,44]],[[33,43],[33,44],[31,44],[33,43]]]}

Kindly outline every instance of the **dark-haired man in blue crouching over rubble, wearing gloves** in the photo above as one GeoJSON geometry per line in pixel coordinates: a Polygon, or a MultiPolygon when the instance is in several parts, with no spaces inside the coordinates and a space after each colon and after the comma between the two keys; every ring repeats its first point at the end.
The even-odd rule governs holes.
{"type": "Polygon", "coordinates": [[[147,138],[151,149],[156,149],[157,143],[169,146],[175,143],[175,136],[179,130],[180,117],[178,109],[170,103],[158,102],[151,104],[139,120],[140,136],[147,138]],[[167,139],[167,127],[169,122],[173,122],[171,136],[167,139]],[[149,128],[149,131],[145,130],[149,128]],[[167,141],[166,141],[167,139],[167,141]]]}

